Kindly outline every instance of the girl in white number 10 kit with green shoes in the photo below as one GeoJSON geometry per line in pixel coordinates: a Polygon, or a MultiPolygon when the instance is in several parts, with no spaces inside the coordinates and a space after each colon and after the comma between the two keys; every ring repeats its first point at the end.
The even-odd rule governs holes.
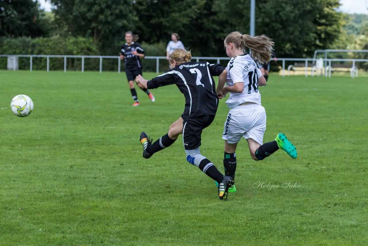
{"type": "MultiPolygon", "coordinates": [[[[283,149],[292,158],[297,157],[297,150],[282,133],[275,141],[263,143],[266,130],[266,111],[261,105],[258,86],[266,85],[266,79],[257,67],[254,58],[261,63],[269,62],[272,55],[271,39],[262,36],[251,37],[240,32],[231,32],[224,41],[226,54],[231,58],[226,69],[227,79],[219,98],[230,93],[226,103],[230,109],[224,124],[222,138],[225,140],[224,169],[225,175],[234,179],[236,170],[235,150],[243,136],[247,139],[252,159],[263,160],[278,149],[283,149]],[[244,53],[250,48],[252,56],[244,53]]],[[[229,192],[235,192],[235,185],[229,192]]]]}

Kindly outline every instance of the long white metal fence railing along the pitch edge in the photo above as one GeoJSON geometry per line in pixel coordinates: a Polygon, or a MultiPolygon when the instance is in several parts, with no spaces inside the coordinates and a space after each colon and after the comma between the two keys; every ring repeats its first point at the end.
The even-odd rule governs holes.
{"type": "MultiPolygon", "coordinates": [[[[46,70],[49,72],[49,64],[50,64],[50,58],[64,58],[64,72],[67,71],[67,58],[81,58],[82,59],[82,72],[84,72],[84,59],[85,58],[98,58],[100,59],[100,73],[102,73],[102,59],[117,59],[118,62],[118,73],[120,73],[121,68],[121,60],[120,56],[76,56],[76,55],[0,55],[0,57],[8,57],[13,58],[14,61],[14,70],[17,68],[17,59],[19,57],[29,57],[30,59],[30,67],[29,70],[32,71],[32,59],[36,57],[43,57],[47,58],[47,65],[46,70]]],[[[145,56],[144,59],[156,59],[156,73],[159,73],[159,60],[165,59],[166,56],[145,56]]],[[[217,63],[220,63],[220,60],[229,60],[228,57],[192,57],[192,60],[196,60],[199,62],[200,60],[216,60],[217,63]]],[[[322,58],[321,58],[322,59],[322,58]]],[[[273,60],[273,59],[271,59],[273,60]]],[[[293,62],[304,62],[305,63],[305,77],[308,77],[308,62],[315,62],[315,59],[313,58],[277,58],[277,60],[282,61],[282,76],[285,76],[285,61],[293,61],[293,62]]],[[[331,77],[331,63],[332,62],[352,62],[353,65],[351,66],[350,75],[351,77],[356,77],[358,75],[357,67],[355,66],[355,62],[368,62],[368,59],[322,59],[325,64],[328,63],[328,66],[323,67],[324,68],[324,75],[325,77],[331,77]]],[[[290,66],[289,69],[290,71],[290,66]]],[[[290,74],[289,74],[290,75],[290,74]]],[[[313,75],[313,69],[312,73],[313,75]]]]}

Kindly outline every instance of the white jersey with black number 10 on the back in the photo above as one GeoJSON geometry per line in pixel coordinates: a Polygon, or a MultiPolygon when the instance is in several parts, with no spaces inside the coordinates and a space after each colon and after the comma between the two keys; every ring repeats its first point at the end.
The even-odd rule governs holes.
{"type": "Polygon", "coordinates": [[[244,83],[243,93],[230,92],[227,99],[227,107],[233,108],[239,104],[253,102],[261,105],[261,94],[258,91],[258,78],[262,76],[253,58],[245,53],[231,58],[227,64],[226,84],[244,83]]]}

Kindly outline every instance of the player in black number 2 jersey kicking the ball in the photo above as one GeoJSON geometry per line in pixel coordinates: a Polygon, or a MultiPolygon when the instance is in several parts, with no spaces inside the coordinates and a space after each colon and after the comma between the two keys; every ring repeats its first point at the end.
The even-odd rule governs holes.
{"type": "MultiPolygon", "coordinates": [[[[229,176],[224,176],[210,160],[201,155],[202,130],[208,127],[215,118],[219,100],[212,76],[219,76],[218,91],[222,91],[227,71],[220,64],[208,62],[190,62],[191,53],[184,49],[175,49],[169,55],[172,70],[152,80],[137,76],[135,82],[142,86],[155,89],[160,86],[176,84],[185,96],[183,118],[183,144],[187,161],[201,169],[206,175],[219,182],[219,199],[227,199],[227,191],[234,183],[229,176]]],[[[139,139],[145,152],[151,142],[145,132],[139,139]]],[[[163,143],[165,145],[167,143],[163,143]]]]}

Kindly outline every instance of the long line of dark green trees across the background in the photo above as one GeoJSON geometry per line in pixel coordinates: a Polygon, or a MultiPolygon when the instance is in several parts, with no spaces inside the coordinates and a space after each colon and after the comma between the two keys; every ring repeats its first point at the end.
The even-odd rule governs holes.
{"type": "MultiPolygon", "coordinates": [[[[0,0],[0,38],[85,38],[99,55],[117,55],[132,31],[150,50],[161,47],[148,55],[163,56],[177,32],[194,56],[226,56],[226,35],[250,30],[250,0],[49,1],[51,13],[36,0],[0,0]]],[[[344,35],[348,17],[339,6],[339,0],[256,0],[256,35],[272,38],[279,57],[311,57],[344,35]]]]}

